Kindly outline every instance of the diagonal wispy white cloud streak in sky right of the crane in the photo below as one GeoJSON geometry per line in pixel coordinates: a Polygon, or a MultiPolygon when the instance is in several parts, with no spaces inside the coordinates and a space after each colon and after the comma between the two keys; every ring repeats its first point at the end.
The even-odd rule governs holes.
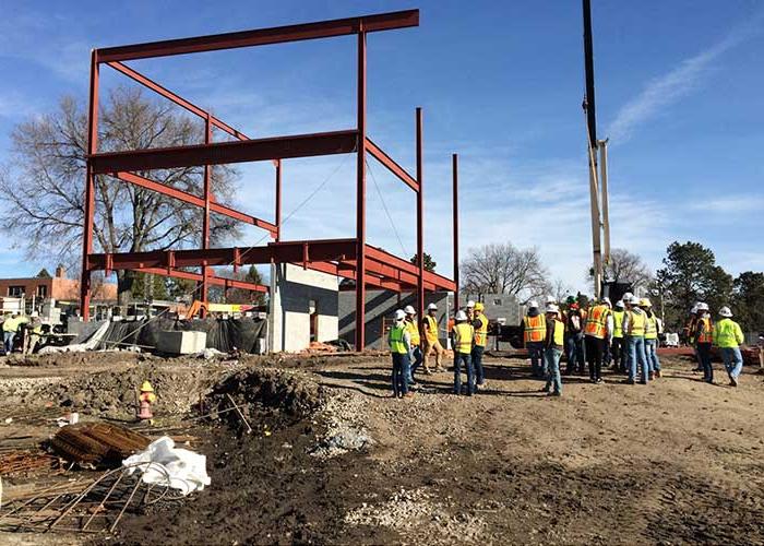
{"type": "Polygon", "coordinates": [[[689,95],[702,82],[713,63],[730,49],[761,33],[764,12],[760,12],[745,25],[730,32],[708,49],[684,59],[677,68],[647,83],[636,97],[626,103],[616,115],[608,129],[613,143],[629,140],[645,121],[654,118],[662,108],[689,95]]]}

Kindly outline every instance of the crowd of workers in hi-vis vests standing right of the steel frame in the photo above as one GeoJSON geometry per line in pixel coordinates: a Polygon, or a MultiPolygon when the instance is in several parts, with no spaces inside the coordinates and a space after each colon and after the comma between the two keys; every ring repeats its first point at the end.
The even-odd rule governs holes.
{"type": "MultiPolygon", "coordinates": [[[[546,379],[544,391],[550,396],[562,394],[560,359],[565,354],[568,366],[564,375],[584,375],[588,364],[589,380],[602,382],[602,368],[628,376],[626,383],[647,384],[660,377],[658,336],[662,323],[653,311],[647,298],[626,293],[613,308],[609,298],[582,309],[573,297],[560,307],[552,298],[544,309],[537,301],[528,302],[523,319],[523,337],[530,358],[534,377],[546,379]]],[[[393,395],[410,397],[416,384],[414,373],[423,365],[425,373],[432,373],[429,358],[434,353],[435,370],[442,371],[443,347],[438,340],[438,307],[428,306],[422,322],[423,342],[411,306],[395,311],[395,320],[389,334],[393,357],[393,395]]],[[[695,349],[699,367],[706,382],[714,382],[712,348],[718,348],[725,363],[730,385],[737,387],[742,371],[740,344],[743,334],[732,320],[729,307],[718,311],[719,320],[713,321],[708,305],[697,304],[685,333],[695,349]]],[[[488,318],[481,302],[468,301],[466,309],[454,316],[451,330],[454,349],[454,393],[471,396],[485,384],[482,355],[488,341],[488,318]],[[462,369],[467,383],[462,383],[462,369]]]]}

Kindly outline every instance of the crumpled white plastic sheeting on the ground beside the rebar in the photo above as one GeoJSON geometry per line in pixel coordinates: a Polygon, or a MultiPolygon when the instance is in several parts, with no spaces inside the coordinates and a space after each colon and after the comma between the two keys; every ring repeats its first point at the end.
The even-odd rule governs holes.
{"type": "Polygon", "coordinates": [[[143,472],[145,484],[157,484],[178,489],[182,495],[201,491],[210,485],[207,458],[193,451],[176,448],[171,438],[163,436],[148,447],[122,461],[132,474],[143,472]],[[158,466],[158,467],[157,467],[158,466]]]}

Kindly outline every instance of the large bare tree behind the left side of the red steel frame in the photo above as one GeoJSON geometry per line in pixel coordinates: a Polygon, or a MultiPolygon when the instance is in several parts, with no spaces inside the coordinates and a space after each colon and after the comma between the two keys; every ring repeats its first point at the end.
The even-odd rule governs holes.
{"type": "MultiPolygon", "coordinates": [[[[183,146],[203,142],[202,123],[174,105],[146,98],[140,88],[118,87],[102,104],[98,151],[183,146]]],[[[59,109],[19,124],[12,134],[10,168],[0,174],[5,234],[29,258],[77,263],[84,224],[87,114],[72,97],[59,109]]],[[[189,193],[203,192],[203,167],[138,171],[189,193]]],[[[236,174],[215,167],[212,188],[222,202],[234,194],[236,174]]],[[[95,178],[95,250],[138,252],[199,246],[202,210],[110,176],[95,178]]],[[[235,223],[211,218],[211,238],[239,235],[235,223]]],[[[131,299],[135,274],[118,273],[120,304],[131,299]]]]}

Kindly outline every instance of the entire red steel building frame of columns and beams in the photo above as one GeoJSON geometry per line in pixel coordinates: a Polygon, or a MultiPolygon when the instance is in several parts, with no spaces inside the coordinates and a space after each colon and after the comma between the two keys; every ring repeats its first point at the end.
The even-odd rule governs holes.
{"type": "MultiPolygon", "coordinates": [[[[416,177],[410,176],[367,135],[367,35],[373,32],[405,28],[419,25],[419,11],[408,10],[361,17],[323,21],[275,28],[243,31],[229,34],[198,36],[130,46],[94,49],[91,59],[89,120],[87,143],[87,179],[85,187],[85,225],[83,237],[83,266],[81,284],[81,310],[88,320],[91,299],[91,273],[103,270],[134,270],[153,274],[198,281],[200,299],[206,300],[208,285],[267,290],[266,286],[231,281],[215,276],[210,268],[264,263],[294,263],[306,269],[321,271],[356,282],[356,348],[365,346],[366,287],[379,287],[396,292],[416,292],[419,316],[423,316],[426,290],[454,290],[458,302],[458,283],[423,268],[425,195],[422,167],[422,111],[416,112],[416,177]],[[193,105],[171,91],[153,82],[124,64],[124,61],[166,57],[200,51],[213,51],[238,47],[280,44],[286,41],[330,38],[356,35],[358,38],[358,123],[355,129],[250,139],[220,121],[208,111],[193,105]],[[203,144],[169,149],[98,152],[98,74],[106,64],[163,97],[202,118],[205,122],[203,144]],[[213,129],[222,130],[236,140],[213,142],[213,129]],[[282,228],[282,163],[293,157],[330,154],[357,154],[356,237],[330,240],[283,241],[282,228]],[[367,244],[366,237],[366,156],[370,155],[408,186],[417,195],[417,257],[415,265],[367,244]],[[215,201],[211,188],[212,165],[273,161],[276,171],[276,203],[274,223],[235,211],[215,201]],[[172,187],[134,174],[151,169],[204,166],[204,195],[193,195],[172,187]],[[93,222],[95,213],[95,185],[97,175],[114,176],[152,191],[178,199],[204,209],[202,248],[189,250],[152,250],[146,252],[93,252],[93,222]],[[210,248],[210,214],[222,214],[258,226],[268,232],[274,241],[261,247],[210,248]],[[201,268],[192,273],[184,268],[201,268]]],[[[454,276],[458,278],[458,223],[457,223],[457,158],[453,156],[453,214],[454,214],[454,276]]]]}

